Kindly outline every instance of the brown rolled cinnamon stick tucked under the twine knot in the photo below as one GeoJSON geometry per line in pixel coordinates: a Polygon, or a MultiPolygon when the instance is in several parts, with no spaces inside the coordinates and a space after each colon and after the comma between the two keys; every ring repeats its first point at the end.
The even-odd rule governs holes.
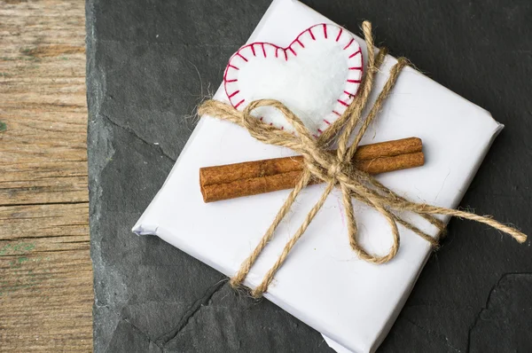
{"type": "MultiPolygon", "coordinates": [[[[381,142],[358,147],[353,162],[370,174],[422,166],[424,155],[418,137],[381,142]]],[[[301,156],[200,169],[200,189],[205,202],[229,200],[264,192],[291,189],[303,169],[301,156]]],[[[311,184],[320,183],[314,180],[311,184]]]]}

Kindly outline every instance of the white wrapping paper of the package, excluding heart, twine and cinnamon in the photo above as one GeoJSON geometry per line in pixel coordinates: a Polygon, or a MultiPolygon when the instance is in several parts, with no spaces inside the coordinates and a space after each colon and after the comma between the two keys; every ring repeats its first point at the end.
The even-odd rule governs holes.
{"type": "MultiPolygon", "coordinates": [[[[275,0],[248,42],[286,46],[317,23],[332,21],[297,1],[275,0]]],[[[357,40],[365,55],[364,40],[357,40]]],[[[388,56],[376,75],[370,106],[395,62],[388,56]]],[[[223,87],[215,98],[227,101],[223,87]]],[[[422,138],[424,167],[378,179],[410,200],[456,208],[502,128],[487,111],[407,67],[362,144],[422,138]]],[[[289,155],[293,155],[290,150],[264,145],[235,124],[203,117],[133,231],[157,235],[231,277],[262,238],[289,191],[206,204],[199,169],[289,155]]],[[[246,286],[261,283],[324,188],[312,185],[301,192],[249,272],[246,286]]],[[[387,253],[392,243],[387,221],[356,201],[354,207],[362,245],[370,252],[387,253]]],[[[399,226],[401,247],[395,259],[381,265],[365,263],[349,247],[343,212],[340,192],[334,191],[264,296],[324,334],[333,349],[372,352],[394,324],[432,249],[426,240],[399,226]]],[[[437,230],[419,216],[411,220],[436,235],[437,230]]]]}

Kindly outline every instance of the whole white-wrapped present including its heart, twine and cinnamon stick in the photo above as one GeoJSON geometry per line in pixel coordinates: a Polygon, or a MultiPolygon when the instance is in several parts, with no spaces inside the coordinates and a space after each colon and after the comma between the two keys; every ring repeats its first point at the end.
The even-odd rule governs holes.
{"type": "MultiPolygon", "coordinates": [[[[314,327],[338,351],[371,352],[386,337],[431,254],[436,242],[432,239],[441,234],[442,227],[437,225],[446,224],[452,215],[435,216],[430,218],[434,220],[431,223],[426,222],[422,211],[437,213],[430,209],[458,206],[503,128],[487,111],[408,67],[404,60],[381,53],[376,60],[382,62],[377,63],[368,60],[372,52],[368,53],[364,39],[306,5],[293,0],[274,1],[248,43],[230,59],[223,84],[215,93],[214,99],[224,103],[219,109],[234,110],[227,110],[230,122],[215,119],[216,114],[201,118],[167,181],[133,228],[137,234],[159,236],[229,277],[238,273],[241,276],[237,276],[237,284],[252,288],[254,294],[264,294],[314,327]],[[367,67],[368,63],[372,67],[367,67]],[[403,148],[402,152],[389,154],[386,149],[386,154],[372,154],[367,165],[364,161],[368,160],[360,153],[373,147],[361,146],[359,154],[349,156],[343,164],[335,162],[334,151],[332,157],[325,155],[323,163],[319,157],[309,157],[319,147],[312,138],[321,141],[334,122],[349,113],[353,102],[364,96],[364,71],[372,71],[373,77],[372,89],[367,91],[368,103],[359,106],[365,107],[364,117],[372,116],[371,108],[381,92],[388,94],[374,112],[372,124],[363,123],[364,133],[355,131],[349,143],[355,139],[355,145],[377,146],[382,153],[386,148],[375,144],[397,144],[395,140],[417,137],[409,140],[415,146],[407,144],[407,148],[403,142],[401,147],[393,145],[395,152],[403,148]],[[387,86],[390,80],[395,83],[393,88],[387,86]],[[237,123],[231,122],[231,117],[237,123]],[[238,121],[240,117],[245,119],[238,121]],[[258,125],[247,126],[250,117],[258,125]],[[301,125],[294,127],[295,122],[301,125]],[[255,138],[255,129],[264,134],[273,129],[284,131],[290,143],[274,143],[272,135],[270,145],[264,144],[261,138],[255,138]],[[358,141],[356,136],[362,138],[358,141]],[[412,161],[412,155],[420,153],[420,141],[423,154],[416,154],[417,160],[412,161]],[[300,142],[306,147],[293,147],[300,142]],[[303,157],[298,160],[300,157],[294,156],[300,153],[303,157]],[[354,176],[342,166],[351,163],[351,157],[355,162],[362,161],[356,164],[356,176],[366,175],[359,169],[372,173],[372,161],[386,161],[388,169],[379,167],[376,173],[395,171],[376,176],[375,183],[386,186],[381,192],[389,188],[395,200],[405,198],[434,207],[417,208],[416,213],[405,207],[390,216],[387,207],[372,203],[364,192],[362,196],[356,193],[357,184],[349,184],[354,176]],[[399,157],[408,161],[397,164],[399,157]],[[230,172],[239,174],[234,178],[219,171],[227,169],[217,169],[214,176],[207,172],[200,175],[200,169],[205,171],[208,166],[270,159],[283,159],[273,162],[271,174],[271,168],[264,167],[264,163],[271,166],[271,162],[259,162],[259,167],[246,164],[238,173],[231,166],[230,172]],[[293,161],[295,164],[290,164],[293,161]],[[391,168],[393,162],[395,167],[391,168]],[[423,167],[409,168],[421,164],[423,167]],[[317,180],[302,185],[306,187],[301,187],[282,221],[273,227],[271,237],[264,240],[264,231],[271,228],[279,208],[293,196],[290,188],[301,180],[301,170],[315,167],[312,176],[317,180]],[[295,174],[279,181],[278,176],[288,176],[286,173],[295,174]],[[224,181],[216,181],[218,176],[225,177],[224,181]],[[341,177],[347,179],[342,181],[341,177]],[[207,183],[206,179],[215,181],[207,183]],[[240,184],[231,185],[232,193],[228,189],[209,193],[213,191],[207,188],[233,182],[240,184]],[[345,204],[346,195],[351,195],[346,190],[355,190],[353,194],[358,195],[350,207],[345,204]],[[316,215],[309,222],[309,212],[312,214],[315,208],[316,215]],[[356,236],[352,216],[358,224],[356,236]],[[395,232],[394,226],[390,231],[390,217],[397,217],[392,219],[395,232]],[[308,227],[285,254],[286,243],[301,224],[308,227]],[[400,233],[401,247],[391,233],[400,233]],[[356,239],[359,251],[353,251],[352,239],[356,239]],[[262,241],[264,246],[243,271],[242,263],[262,241]],[[272,272],[279,255],[285,256],[282,266],[272,272]],[[264,278],[268,278],[266,283],[264,278]]],[[[204,107],[201,111],[213,110],[204,107]]],[[[332,150],[342,149],[341,137],[340,142],[333,141],[332,150]]],[[[523,240],[520,233],[516,234],[514,238],[523,240]]]]}

